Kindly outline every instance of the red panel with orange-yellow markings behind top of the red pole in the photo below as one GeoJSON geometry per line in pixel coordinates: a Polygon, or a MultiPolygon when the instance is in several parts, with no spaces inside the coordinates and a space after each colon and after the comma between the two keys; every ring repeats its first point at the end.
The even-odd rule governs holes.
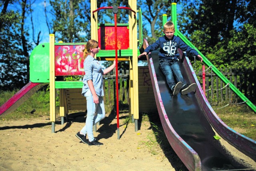
{"type": "MultiPolygon", "coordinates": [[[[115,27],[100,26],[98,29],[100,49],[115,49],[115,27]]],[[[117,49],[129,48],[129,29],[127,26],[117,26],[117,49]]]]}

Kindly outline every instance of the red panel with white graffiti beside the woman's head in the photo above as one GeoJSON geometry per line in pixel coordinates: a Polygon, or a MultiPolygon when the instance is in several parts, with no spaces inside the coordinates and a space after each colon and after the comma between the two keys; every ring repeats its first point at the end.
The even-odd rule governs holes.
{"type": "Polygon", "coordinates": [[[84,45],[55,45],[55,75],[84,75],[84,45]]]}

